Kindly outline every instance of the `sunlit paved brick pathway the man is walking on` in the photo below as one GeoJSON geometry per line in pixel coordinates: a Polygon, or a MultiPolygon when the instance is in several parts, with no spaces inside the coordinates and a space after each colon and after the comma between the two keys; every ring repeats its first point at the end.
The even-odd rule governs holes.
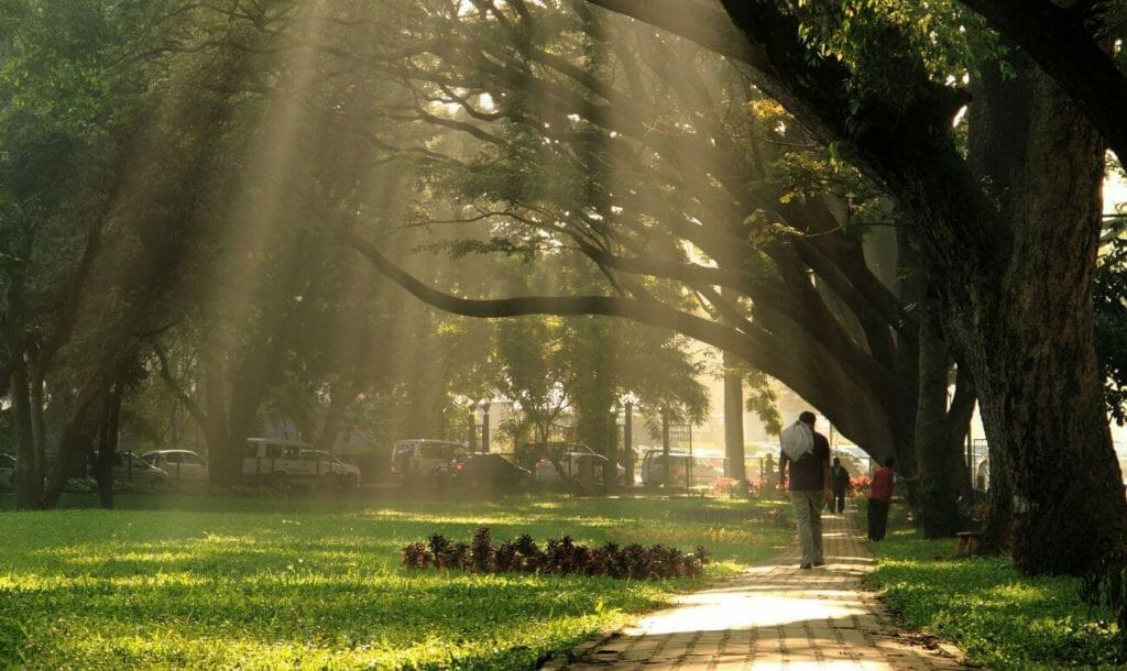
{"type": "Polygon", "coordinates": [[[855,512],[823,516],[827,565],[773,564],[677,599],[637,627],[582,645],[549,668],[568,671],[965,669],[961,654],[899,632],[860,587],[873,561],[855,512]]]}

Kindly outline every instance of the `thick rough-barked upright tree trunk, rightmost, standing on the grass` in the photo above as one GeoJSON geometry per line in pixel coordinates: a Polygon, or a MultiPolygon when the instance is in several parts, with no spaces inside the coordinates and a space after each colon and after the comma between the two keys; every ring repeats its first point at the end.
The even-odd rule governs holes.
{"type": "Polygon", "coordinates": [[[1092,335],[1103,151],[1047,77],[1017,69],[1013,81],[986,82],[970,119],[992,184],[1017,187],[999,191],[1009,261],[997,293],[955,321],[977,345],[969,363],[994,486],[999,466],[1010,475],[1014,561],[1027,573],[1076,573],[1121,542],[1127,521],[1092,335]]]}

